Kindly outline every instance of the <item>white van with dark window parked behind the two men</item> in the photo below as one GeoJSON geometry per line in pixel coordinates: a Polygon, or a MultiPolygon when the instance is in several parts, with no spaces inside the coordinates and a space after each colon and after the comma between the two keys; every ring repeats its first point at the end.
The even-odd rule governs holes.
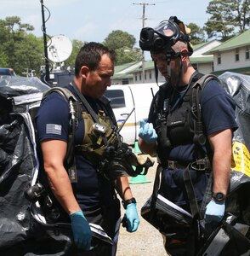
{"type": "Polygon", "coordinates": [[[152,98],[158,89],[156,83],[150,83],[113,84],[106,90],[105,96],[111,100],[118,126],[121,126],[130,114],[120,131],[124,143],[134,145],[138,140],[139,121],[148,118],[152,98]]]}

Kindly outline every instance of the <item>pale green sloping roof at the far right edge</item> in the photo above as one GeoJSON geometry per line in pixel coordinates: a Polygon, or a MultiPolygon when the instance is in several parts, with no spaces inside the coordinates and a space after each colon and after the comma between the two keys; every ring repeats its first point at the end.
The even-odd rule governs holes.
{"type": "Polygon", "coordinates": [[[224,51],[227,49],[236,49],[237,47],[245,45],[250,45],[250,29],[248,29],[246,32],[242,32],[240,35],[234,38],[230,38],[219,46],[210,49],[206,54],[213,54],[214,52],[224,51]]]}

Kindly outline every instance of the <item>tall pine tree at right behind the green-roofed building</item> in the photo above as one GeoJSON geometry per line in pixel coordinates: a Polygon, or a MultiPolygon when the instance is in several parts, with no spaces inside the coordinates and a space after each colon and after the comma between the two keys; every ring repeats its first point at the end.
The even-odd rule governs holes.
{"type": "Polygon", "coordinates": [[[225,41],[243,32],[250,24],[250,0],[213,0],[207,6],[207,14],[212,15],[204,26],[208,38],[220,36],[225,41]]]}

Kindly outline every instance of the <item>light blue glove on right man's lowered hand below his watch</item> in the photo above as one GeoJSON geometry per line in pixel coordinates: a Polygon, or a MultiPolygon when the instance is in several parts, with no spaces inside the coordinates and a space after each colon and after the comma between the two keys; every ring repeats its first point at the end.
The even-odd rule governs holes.
{"type": "Polygon", "coordinates": [[[205,211],[205,224],[219,223],[224,217],[224,201],[211,200],[206,207],[205,211]]]}

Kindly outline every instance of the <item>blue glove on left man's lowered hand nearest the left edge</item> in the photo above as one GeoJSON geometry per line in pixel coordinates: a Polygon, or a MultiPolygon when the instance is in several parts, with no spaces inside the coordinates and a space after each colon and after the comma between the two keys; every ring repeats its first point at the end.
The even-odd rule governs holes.
{"type": "Polygon", "coordinates": [[[92,234],[88,221],[82,211],[70,214],[71,229],[74,235],[74,241],[78,249],[88,251],[91,246],[92,234]]]}

